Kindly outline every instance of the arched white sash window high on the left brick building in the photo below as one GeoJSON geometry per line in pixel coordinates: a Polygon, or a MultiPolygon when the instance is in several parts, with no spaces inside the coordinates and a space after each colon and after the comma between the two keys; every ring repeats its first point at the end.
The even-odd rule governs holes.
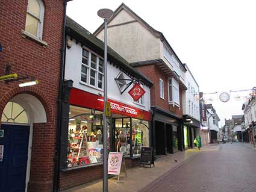
{"type": "Polygon", "coordinates": [[[43,14],[45,7],[42,0],[28,0],[27,18],[25,31],[42,39],[43,35],[43,14]]]}

